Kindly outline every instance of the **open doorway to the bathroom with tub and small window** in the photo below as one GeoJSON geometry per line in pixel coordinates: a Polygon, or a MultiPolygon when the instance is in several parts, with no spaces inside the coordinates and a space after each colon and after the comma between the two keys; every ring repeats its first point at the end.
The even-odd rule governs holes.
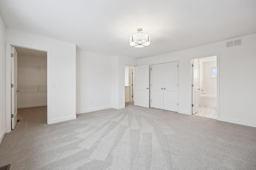
{"type": "Polygon", "coordinates": [[[217,56],[192,59],[192,115],[217,118],[217,56]]]}

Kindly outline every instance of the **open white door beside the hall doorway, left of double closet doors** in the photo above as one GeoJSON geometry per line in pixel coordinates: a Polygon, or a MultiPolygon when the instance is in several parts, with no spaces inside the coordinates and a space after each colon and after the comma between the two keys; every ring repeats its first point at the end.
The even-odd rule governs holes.
{"type": "Polygon", "coordinates": [[[149,107],[149,65],[135,67],[134,105],[149,107]]]}

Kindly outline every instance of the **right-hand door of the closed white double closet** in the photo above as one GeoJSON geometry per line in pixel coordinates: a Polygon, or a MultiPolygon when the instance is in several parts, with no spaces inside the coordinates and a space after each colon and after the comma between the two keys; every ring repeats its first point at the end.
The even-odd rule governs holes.
{"type": "Polygon", "coordinates": [[[178,112],[178,61],[164,63],[164,109],[178,112]]]}

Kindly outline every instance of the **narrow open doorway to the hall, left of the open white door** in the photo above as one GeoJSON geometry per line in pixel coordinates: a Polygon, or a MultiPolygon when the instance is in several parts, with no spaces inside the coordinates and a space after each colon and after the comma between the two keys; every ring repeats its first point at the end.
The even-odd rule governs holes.
{"type": "Polygon", "coordinates": [[[134,80],[135,80],[135,67],[124,66],[124,85],[125,85],[125,107],[128,105],[134,105],[134,80]]]}

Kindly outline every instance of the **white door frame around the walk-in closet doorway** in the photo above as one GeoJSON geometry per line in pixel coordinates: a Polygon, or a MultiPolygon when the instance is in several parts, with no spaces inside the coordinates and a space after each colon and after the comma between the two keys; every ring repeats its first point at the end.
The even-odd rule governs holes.
{"type": "Polygon", "coordinates": [[[11,131],[11,46],[47,52],[47,124],[49,124],[51,117],[51,50],[6,41],[6,133],[11,131]]]}

